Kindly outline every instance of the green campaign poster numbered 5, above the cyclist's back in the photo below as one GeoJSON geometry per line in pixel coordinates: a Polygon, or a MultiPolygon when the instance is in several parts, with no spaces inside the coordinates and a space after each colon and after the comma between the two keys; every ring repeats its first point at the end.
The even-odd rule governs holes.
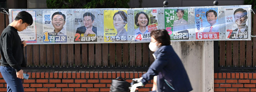
{"type": "Polygon", "coordinates": [[[171,40],[189,39],[187,9],[165,9],[165,30],[171,40]]]}

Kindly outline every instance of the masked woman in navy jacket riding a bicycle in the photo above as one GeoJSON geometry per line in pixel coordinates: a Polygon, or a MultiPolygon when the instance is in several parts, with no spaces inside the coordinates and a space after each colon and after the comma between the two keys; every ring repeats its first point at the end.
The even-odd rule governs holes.
{"type": "Polygon", "coordinates": [[[144,86],[148,81],[157,76],[156,90],[152,92],[189,92],[192,89],[186,70],[170,45],[170,36],[165,29],[153,30],[150,33],[151,42],[149,49],[155,51],[154,62],[148,68],[147,73],[137,78],[139,83],[132,85],[131,91],[144,86]]]}

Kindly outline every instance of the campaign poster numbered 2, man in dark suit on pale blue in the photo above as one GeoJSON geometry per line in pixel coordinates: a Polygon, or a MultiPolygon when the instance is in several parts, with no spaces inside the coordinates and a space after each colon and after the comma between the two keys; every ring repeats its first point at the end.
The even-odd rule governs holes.
{"type": "Polygon", "coordinates": [[[97,42],[97,14],[90,11],[74,11],[74,42],[97,42]]]}

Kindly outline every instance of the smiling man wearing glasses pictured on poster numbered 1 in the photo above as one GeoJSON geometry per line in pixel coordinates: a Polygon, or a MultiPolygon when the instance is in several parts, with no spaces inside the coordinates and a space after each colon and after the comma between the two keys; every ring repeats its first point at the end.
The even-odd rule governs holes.
{"type": "Polygon", "coordinates": [[[57,35],[67,35],[67,32],[63,26],[66,23],[66,16],[62,12],[55,12],[52,14],[52,25],[54,27],[54,33],[57,35]]]}

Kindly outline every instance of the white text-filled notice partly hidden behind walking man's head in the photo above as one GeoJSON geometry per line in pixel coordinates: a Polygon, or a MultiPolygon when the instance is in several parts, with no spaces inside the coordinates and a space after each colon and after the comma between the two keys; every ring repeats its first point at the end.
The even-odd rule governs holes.
{"type": "MultiPolygon", "coordinates": [[[[12,11],[12,18],[13,21],[15,20],[17,14],[20,11],[12,11]]],[[[23,31],[19,32],[18,34],[20,36],[21,41],[26,41],[27,43],[36,43],[37,42],[37,32],[36,32],[36,27],[35,27],[35,20],[36,20],[36,16],[35,16],[35,11],[26,11],[29,14],[32,15],[33,18],[33,23],[32,25],[28,26],[26,29],[24,29],[23,31]]]]}

